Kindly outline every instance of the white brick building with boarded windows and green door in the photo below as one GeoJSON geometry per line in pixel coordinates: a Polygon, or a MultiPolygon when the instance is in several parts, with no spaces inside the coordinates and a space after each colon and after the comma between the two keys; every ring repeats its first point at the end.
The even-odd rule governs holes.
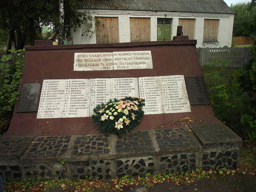
{"type": "Polygon", "coordinates": [[[72,31],[69,44],[172,40],[181,25],[197,47],[231,47],[234,13],[222,0],[87,0],[82,8],[95,32],[72,31]]]}

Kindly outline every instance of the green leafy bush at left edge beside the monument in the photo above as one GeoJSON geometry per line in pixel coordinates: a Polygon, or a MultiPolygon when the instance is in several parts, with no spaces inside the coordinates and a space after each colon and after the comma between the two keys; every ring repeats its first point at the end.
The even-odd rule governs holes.
{"type": "Polygon", "coordinates": [[[11,50],[0,62],[0,134],[8,129],[22,80],[24,50],[11,50]]]}

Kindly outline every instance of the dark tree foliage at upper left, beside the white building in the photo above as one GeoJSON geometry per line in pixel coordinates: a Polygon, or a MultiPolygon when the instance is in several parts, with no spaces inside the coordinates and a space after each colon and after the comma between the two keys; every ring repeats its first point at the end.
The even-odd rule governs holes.
{"type": "MultiPolygon", "coordinates": [[[[66,37],[71,36],[71,29],[84,26],[84,33],[91,33],[92,17],[79,12],[79,0],[63,0],[64,31],[66,37]]],[[[56,0],[1,0],[0,28],[8,31],[7,50],[14,42],[15,49],[23,49],[26,42],[34,44],[36,33],[41,32],[41,25],[52,24],[59,34],[59,4],[56,0]]]]}

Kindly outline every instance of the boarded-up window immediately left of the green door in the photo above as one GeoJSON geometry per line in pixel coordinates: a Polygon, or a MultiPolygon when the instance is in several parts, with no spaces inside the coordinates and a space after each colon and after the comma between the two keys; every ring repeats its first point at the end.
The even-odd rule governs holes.
{"type": "Polygon", "coordinates": [[[131,42],[150,41],[150,18],[130,18],[131,42]]]}

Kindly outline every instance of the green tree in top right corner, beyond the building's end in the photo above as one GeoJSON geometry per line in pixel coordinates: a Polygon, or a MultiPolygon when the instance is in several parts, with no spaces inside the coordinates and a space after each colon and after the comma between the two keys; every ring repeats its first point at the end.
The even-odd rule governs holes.
{"type": "Polygon", "coordinates": [[[251,3],[231,5],[230,8],[236,13],[234,16],[233,36],[256,38],[255,0],[252,0],[251,3]]]}

